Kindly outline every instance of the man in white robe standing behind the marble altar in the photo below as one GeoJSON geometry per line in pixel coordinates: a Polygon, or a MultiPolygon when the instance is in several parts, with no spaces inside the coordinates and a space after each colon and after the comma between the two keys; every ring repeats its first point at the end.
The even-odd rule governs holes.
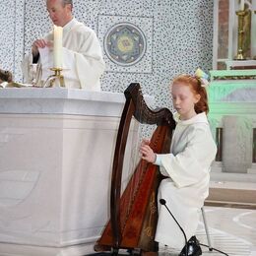
{"type": "MultiPolygon", "coordinates": [[[[46,0],[47,11],[54,26],[61,27],[62,75],[67,88],[100,91],[99,78],[104,71],[104,61],[96,32],[78,22],[72,15],[72,0],[46,0]]],[[[53,74],[53,31],[32,43],[32,52],[25,56],[22,70],[25,82],[43,86],[53,74]]],[[[55,45],[54,45],[55,50],[55,45]]],[[[54,67],[56,68],[56,67],[54,67]]]]}

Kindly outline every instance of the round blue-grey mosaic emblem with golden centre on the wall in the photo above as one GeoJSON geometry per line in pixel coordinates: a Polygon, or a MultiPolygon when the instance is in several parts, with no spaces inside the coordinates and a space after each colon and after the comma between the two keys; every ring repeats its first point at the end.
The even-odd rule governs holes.
{"type": "Polygon", "coordinates": [[[107,57],[121,66],[134,65],[146,51],[146,37],[135,25],[120,23],[104,36],[104,50],[107,57]]]}

